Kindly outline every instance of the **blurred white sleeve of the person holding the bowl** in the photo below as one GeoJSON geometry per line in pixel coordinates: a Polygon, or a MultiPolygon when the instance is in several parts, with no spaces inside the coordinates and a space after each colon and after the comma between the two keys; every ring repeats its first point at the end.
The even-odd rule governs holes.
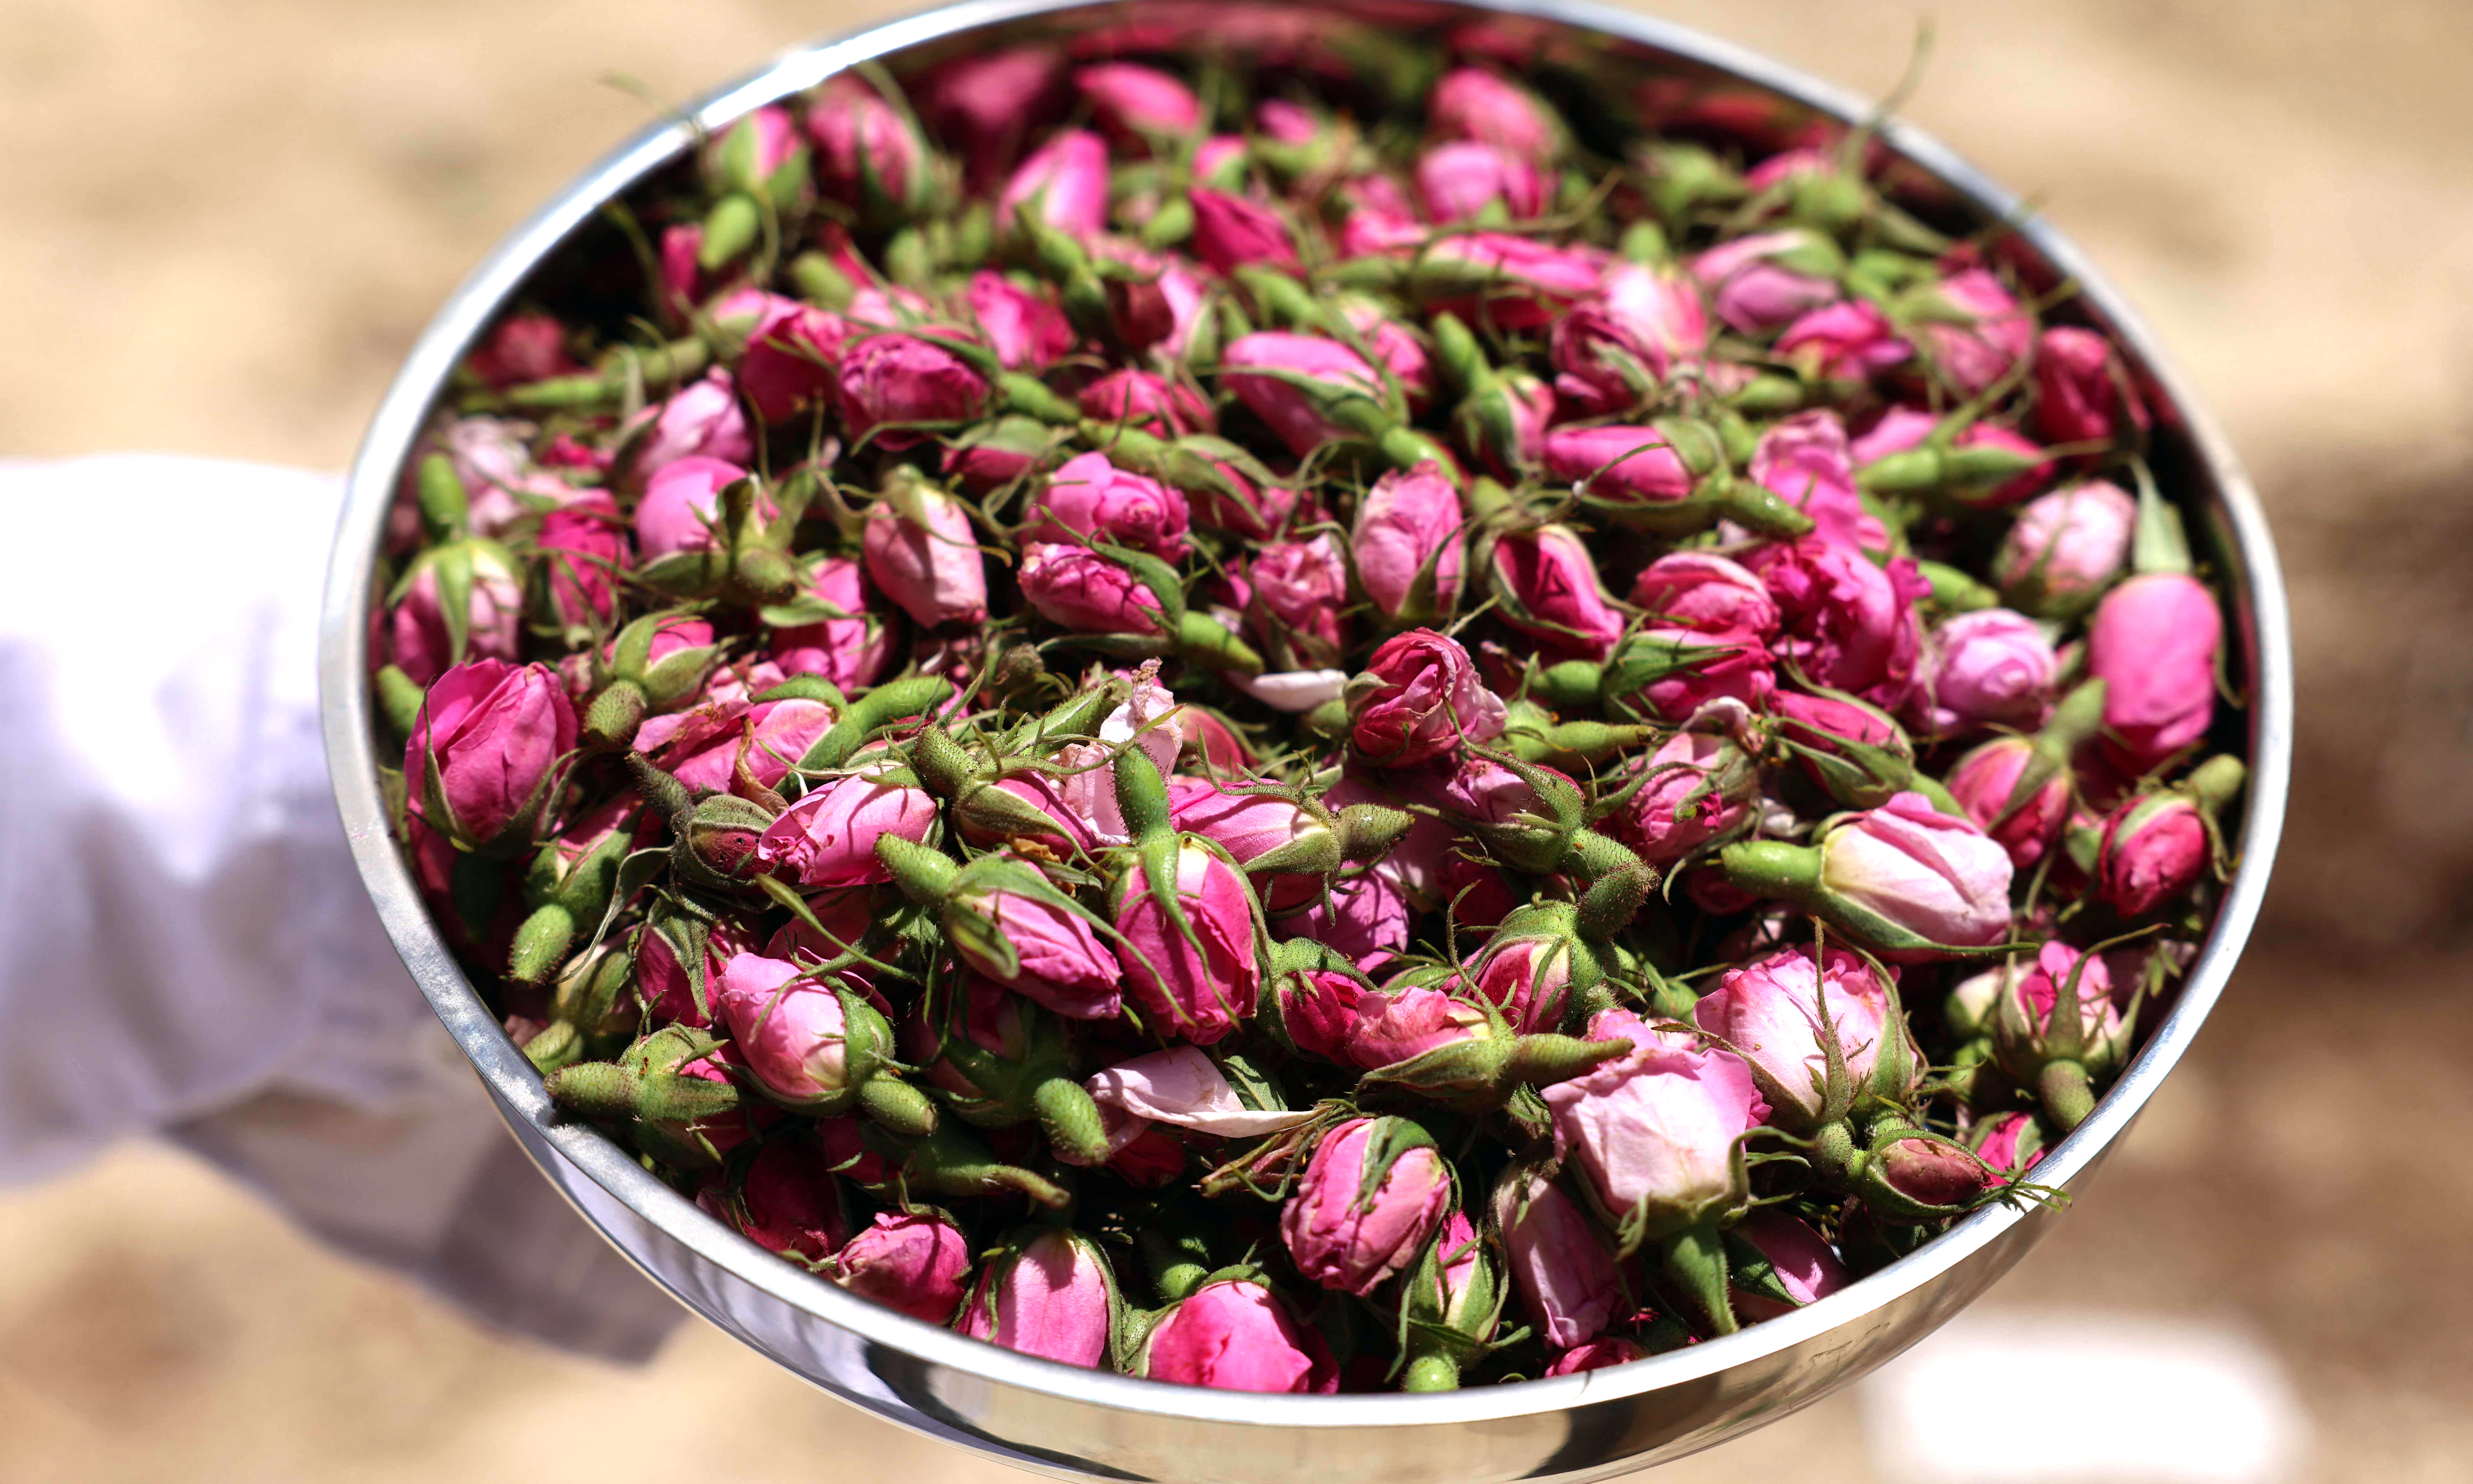
{"type": "Polygon", "coordinates": [[[490,1323],[680,1311],[524,1162],[396,960],[326,784],[341,480],[0,463],[0,1182],[171,1133],[490,1323]]]}

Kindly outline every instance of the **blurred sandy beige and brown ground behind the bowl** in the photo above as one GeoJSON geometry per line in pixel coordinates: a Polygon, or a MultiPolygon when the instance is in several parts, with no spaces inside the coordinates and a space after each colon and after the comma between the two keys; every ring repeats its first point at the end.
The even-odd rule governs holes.
{"type": "MultiPolygon", "coordinates": [[[[687,96],[895,10],[0,0],[0,453],[339,467],[455,279],[645,121],[608,74],[687,96]]],[[[1664,5],[1875,94],[1917,10],[1664,5]]],[[[2466,1479],[2473,7],[1936,15],[1914,119],[2040,193],[2186,361],[2265,487],[2305,675],[2245,970],[1998,1301],[2241,1321],[2307,1395],[2315,1477],[2466,1479]]],[[[2060,1400],[1956,1402],[2030,1427],[2060,1400]]],[[[10,1482],[1002,1477],[705,1328],[643,1373],[495,1341],[158,1148],[0,1197],[0,1437],[10,1482]]],[[[1837,1400],[1664,1477],[1867,1472],[1837,1400]]]]}

